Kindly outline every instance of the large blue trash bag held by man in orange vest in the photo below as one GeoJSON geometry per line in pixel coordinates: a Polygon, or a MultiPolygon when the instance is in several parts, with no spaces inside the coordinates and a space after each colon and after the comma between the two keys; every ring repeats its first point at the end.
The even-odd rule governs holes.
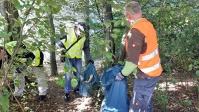
{"type": "Polygon", "coordinates": [[[100,112],[128,112],[129,111],[129,98],[127,95],[127,80],[124,78],[122,81],[115,81],[115,75],[121,71],[122,66],[114,66],[111,69],[104,71],[101,78],[106,80],[105,84],[105,97],[101,104],[100,112]],[[109,73],[109,74],[107,74],[109,73]],[[105,78],[104,78],[105,77],[105,78]],[[108,80],[109,79],[109,80],[108,80]]]}

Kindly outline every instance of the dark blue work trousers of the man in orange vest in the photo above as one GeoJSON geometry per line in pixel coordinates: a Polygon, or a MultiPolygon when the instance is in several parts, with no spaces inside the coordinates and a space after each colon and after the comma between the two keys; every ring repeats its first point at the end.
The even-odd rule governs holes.
{"type": "Polygon", "coordinates": [[[134,80],[133,93],[129,112],[153,112],[152,95],[158,77],[136,78],[134,80]]]}

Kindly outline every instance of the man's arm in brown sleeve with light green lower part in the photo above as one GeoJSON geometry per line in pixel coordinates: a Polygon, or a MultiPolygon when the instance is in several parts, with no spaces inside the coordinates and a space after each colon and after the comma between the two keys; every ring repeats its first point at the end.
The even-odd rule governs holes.
{"type": "Polygon", "coordinates": [[[133,29],[131,36],[128,37],[127,58],[121,71],[122,75],[128,76],[137,68],[139,55],[142,53],[144,44],[145,36],[139,30],[133,29]]]}

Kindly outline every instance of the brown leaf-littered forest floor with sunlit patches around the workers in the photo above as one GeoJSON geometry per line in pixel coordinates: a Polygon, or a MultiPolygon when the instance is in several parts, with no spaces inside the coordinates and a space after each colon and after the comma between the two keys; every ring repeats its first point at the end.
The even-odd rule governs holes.
{"type": "MultiPolygon", "coordinates": [[[[102,70],[98,71],[98,74],[101,73],[102,70]]],[[[179,74],[171,74],[167,77],[171,80],[168,80],[169,88],[165,92],[165,77],[166,75],[162,75],[159,89],[156,88],[154,92],[155,112],[199,112],[198,83],[191,78],[190,82],[184,83],[184,79],[179,79],[179,74]],[[174,79],[180,80],[181,83],[171,83],[175,82],[174,79]]],[[[23,98],[18,99],[22,108],[27,112],[99,112],[103,96],[81,97],[71,92],[71,100],[65,102],[64,90],[56,84],[57,79],[55,76],[48,76],[47,98],[41,102],[35,101],[37,87],[27,86],[23,98]]],[[[131,97],[132,83],[129,83],[128,87],[128,94],[131,97]]],[[[22,112],[16,101],[11,100],[10,104],[11,111],[22,112]]]]}

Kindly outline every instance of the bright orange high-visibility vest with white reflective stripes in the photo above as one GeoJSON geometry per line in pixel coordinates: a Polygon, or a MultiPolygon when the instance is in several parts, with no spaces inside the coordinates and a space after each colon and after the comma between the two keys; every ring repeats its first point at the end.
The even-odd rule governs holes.
{"type": "MultiPolygon", "coordinates": [[[[132,26],[130,32],[133,29],[138,29],[145,36],[147,43],[146,51],[139,56],[138,68],[148,76],[160,76],[162,66],[158,52],[156,31],[153,25],[147,19],[142,18],[132,26]]],[[[128,38],[126,38],[126,51],[128,52],[128,38]]]]}

